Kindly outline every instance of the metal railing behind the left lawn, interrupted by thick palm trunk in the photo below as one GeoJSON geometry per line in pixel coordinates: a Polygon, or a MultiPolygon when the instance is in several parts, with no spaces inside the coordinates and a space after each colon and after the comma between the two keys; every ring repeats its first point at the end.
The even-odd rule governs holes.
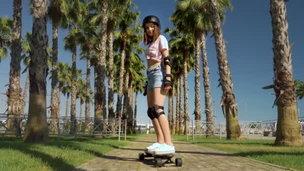
{"type": "MultiPolygon", "coordinates": [[[[0,114],[0,135],[22,136],[24,135],[27,115],[8,116],[0,114]]],[[[60,136],[97,136],[97,135],[124,135],[126,139],[126,119],[95,119],[94,117],[60,117],[46,118],[49,135],[60,136]]]]}

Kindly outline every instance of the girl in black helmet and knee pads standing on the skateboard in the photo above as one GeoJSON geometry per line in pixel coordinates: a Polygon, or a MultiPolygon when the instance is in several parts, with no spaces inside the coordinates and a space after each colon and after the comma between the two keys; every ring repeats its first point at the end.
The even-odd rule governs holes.
{"type": "Polygon", "coordinates": [[[143,43],[148,45],[144,54],[147,58],[147,114],[152,120],[157,142],[145,148],[155,154],[174,153],[169,124],[163,112],[165,96],[171,85],[171,65],[168,42],[160,35],[160,21],[154,15],[144,17],[142,21],[143,43]]]}

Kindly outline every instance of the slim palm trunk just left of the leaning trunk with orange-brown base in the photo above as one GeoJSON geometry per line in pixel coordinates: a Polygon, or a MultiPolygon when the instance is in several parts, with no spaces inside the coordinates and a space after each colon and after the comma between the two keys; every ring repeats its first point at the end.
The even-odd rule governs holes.
{"type": "MultiPolygon", "coordinates": [[[[214,134],[213,124],[213,111],[212,111],[212,99],[210,92],[210,79],[209,79],[209,68],[207,63],[207,51],[206,51],[206,33],[201,34],[201,58],[202,58],[202,77],[203,77],[203,88],[205,91],[205,113],[207,122],[207,136],[208,134],[214,134]]],[[[196,120],[196,119],[195,119],[196,120]]],[[[200,125],[198,125],[200,128],[200,125]]]]}

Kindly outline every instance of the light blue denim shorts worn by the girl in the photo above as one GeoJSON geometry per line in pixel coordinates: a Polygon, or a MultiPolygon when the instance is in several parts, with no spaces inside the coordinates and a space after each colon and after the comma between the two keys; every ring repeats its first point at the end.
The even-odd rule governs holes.
{"type": "Polygon", "coordinates": [[[147,90],[151,91],[153,88],[162,87],[165,78],[164,65],[156,65],[146,70],[148,78],[147,90]]]}

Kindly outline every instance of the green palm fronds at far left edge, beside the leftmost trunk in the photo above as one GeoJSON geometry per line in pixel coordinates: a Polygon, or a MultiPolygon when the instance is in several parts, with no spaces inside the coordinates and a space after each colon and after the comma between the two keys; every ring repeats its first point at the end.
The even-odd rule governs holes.
{"type": "MultiPolygon", "coordinates": [[[[17,11],[16,11],[17,12],[17,11]]],[[[7,47],[10,47],[10,32],[12,20],[8,17],[0,17],[0,62],[7,56],[7,47]]]]}

